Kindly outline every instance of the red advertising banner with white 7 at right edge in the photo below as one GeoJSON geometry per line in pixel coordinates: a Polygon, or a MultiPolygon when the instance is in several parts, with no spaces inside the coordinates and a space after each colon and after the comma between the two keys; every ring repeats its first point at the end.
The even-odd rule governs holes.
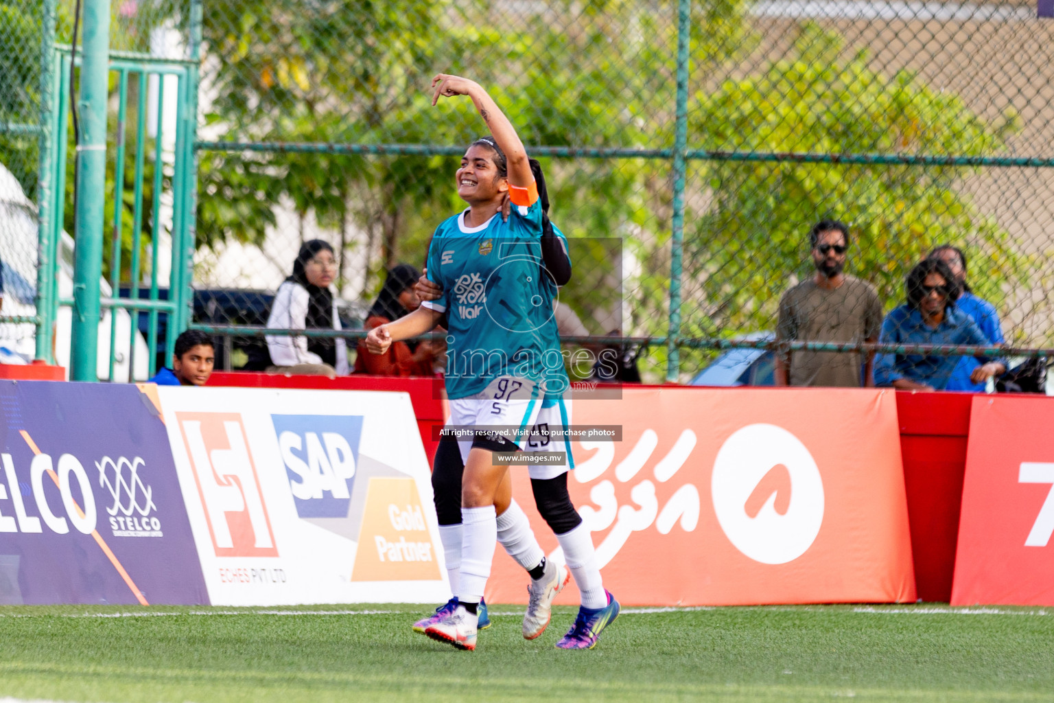
{"type": "Polygon", "coordinates": [[[952,605],[1054,605],[1054,401],[974,396],[952,605]]]}

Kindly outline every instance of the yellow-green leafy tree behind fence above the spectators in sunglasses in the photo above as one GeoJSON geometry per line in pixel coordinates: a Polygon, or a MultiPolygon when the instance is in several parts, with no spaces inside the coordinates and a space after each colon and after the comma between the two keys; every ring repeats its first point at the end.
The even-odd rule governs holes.
{"type": "MultiPolygon", "coordinates": [[[[841,37],[802,26],[785,58],[756,74],[698,93],[689,112],[694,143],[713,151],[989,156],[1017,129],[918,75],[884,75],[866,51],[846,53],[841,37]]],[[[994,277],[974,277],[996,302],[1024,267],[1010,235],[963,188],[976,170],[944,165],[696,163],[686,226],[686,333],[726,336],[772,330],[780,294],[812,275],[807,231],[820,218],[851,226],[847,270],[872,281],[886,307],[902,302],[903,276],[935,245],[963,247],[972,261],[999,260],[994,277]]],[[[979,267],[978,267],[979,268],[979,267]]],[[[985,272],[991,267],[984,267],[985,272]]]]}

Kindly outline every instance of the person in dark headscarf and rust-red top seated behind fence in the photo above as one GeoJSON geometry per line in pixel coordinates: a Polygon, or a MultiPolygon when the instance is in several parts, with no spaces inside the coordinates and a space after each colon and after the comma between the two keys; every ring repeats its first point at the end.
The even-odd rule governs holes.
{"type": "MultiPolygon", "coordinates": [[[[416,310],[421,298],[414,291],[414,284],[419,277],[421,272],[409,263],[392,267],[380,294],[366,315],[366,329],[372,330],[416,310]]],[[[436,360],[443,360],[444,349],[442,341],[423,339],[417,343],[394,341],[384,354],[371,354],[366,349],[366,341],[362,340],[355,357],[355,371],[380,376],[431,376],[435,374],[436,360]]]]}

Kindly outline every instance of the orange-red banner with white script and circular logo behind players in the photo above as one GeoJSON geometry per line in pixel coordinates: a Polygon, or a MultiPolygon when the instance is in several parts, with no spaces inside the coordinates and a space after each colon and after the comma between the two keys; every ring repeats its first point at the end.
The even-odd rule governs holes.
{"type": "MultiPolygon", "coordinates": [[[[572,424],[622,427],[574,442],[568,484],[623,604],[915,600],[893,391],[627,388],[575,402],[572,424]]],[[[525,602],[525,579],[499,548],[487,599],[525,602]]],[[[577,600],[572,582],[558,603],[577,600]]]]}

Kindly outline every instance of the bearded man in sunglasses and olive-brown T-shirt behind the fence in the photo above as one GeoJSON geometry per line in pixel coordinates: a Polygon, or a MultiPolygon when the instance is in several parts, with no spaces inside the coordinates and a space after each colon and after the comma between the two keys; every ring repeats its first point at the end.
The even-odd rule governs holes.
{"type": "MultiPolygon", "coordinates": [[[[808,232],[816,274],[780,298],[776,338],[781,341],[875,341],[882,304],[875,287],[843,273],[848,228],[821,220],[808,232]]],[[[795,351],[776,354],[777,386],[873,386],[875,355],[795,351]]]]}

